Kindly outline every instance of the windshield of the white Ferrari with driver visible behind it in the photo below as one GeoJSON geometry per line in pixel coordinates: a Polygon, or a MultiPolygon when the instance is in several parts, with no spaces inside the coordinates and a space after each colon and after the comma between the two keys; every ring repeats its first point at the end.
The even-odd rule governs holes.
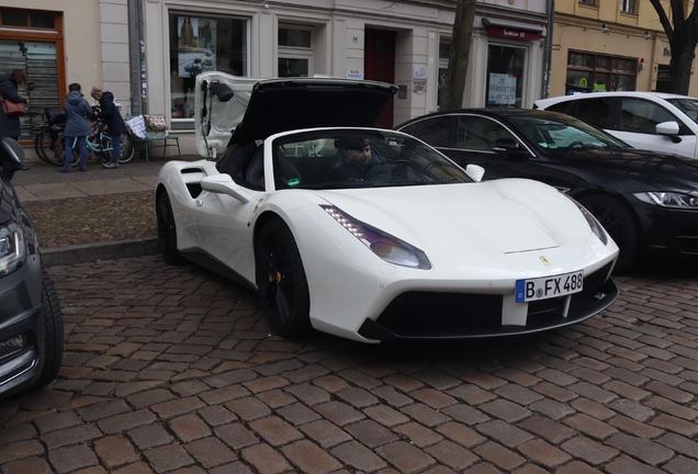
{"type": "Polygon", "coordinates": [[[352,189],[471,182],[462,168],[405,134],[324,128],[272,144],[275,189],[352,189]]]}

